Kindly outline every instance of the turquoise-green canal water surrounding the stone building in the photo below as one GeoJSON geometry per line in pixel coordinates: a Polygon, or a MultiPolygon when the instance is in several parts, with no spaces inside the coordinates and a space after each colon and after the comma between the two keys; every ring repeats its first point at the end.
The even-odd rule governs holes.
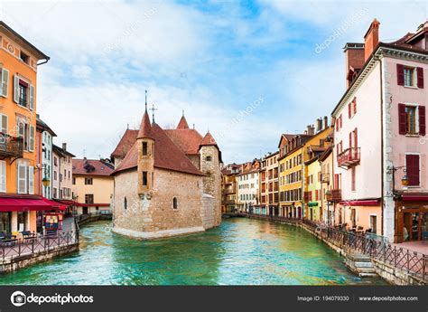
{"type": "Polygon", "coordinates": [[[233,218],[201,234],[135,241],[85,225],[80,251],[0,276],[9,285],[381,285],[359,279],[311,234],[233,218]]]}

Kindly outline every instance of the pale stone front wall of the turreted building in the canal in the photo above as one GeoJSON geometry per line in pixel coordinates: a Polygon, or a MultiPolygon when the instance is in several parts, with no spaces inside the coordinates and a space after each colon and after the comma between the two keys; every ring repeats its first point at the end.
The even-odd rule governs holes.
{"type": "Polygon", "coordinates": [[[115,232],[144,239],[204,231],[201,176],[154,168],[154,187],[144,199],[137,194],[137,184],[136,170],[116,175],[115,232]],[[174,197],[177,209],[172,207],[174,197]]]}

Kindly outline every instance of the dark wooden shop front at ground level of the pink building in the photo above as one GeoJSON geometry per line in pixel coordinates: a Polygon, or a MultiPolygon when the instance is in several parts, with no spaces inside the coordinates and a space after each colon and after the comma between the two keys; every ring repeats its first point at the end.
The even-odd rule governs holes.
{"type": "Polygon", "coordinates": [[[395,242],[428,241],[428,195],[403,195],[395,202],[395,242]]]}

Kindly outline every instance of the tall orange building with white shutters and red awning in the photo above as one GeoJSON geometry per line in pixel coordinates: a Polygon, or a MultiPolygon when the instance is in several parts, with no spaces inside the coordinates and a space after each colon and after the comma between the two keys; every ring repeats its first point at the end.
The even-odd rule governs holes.
{"type": "Polygon", "coordinates": [[[0,233],[36,231],[36,213],[52,203],[37,195],[37,68],[49,57],[0,21],[0,233]]]}

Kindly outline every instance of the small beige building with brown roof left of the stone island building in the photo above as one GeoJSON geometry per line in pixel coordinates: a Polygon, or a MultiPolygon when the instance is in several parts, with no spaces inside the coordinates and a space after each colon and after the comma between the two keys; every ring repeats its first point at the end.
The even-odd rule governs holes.
{"type": "Polygon", "coordinates": [[[114,192],[113,165],[106,159],[73,159],[75,213],[110,213],[114,192]]]}

